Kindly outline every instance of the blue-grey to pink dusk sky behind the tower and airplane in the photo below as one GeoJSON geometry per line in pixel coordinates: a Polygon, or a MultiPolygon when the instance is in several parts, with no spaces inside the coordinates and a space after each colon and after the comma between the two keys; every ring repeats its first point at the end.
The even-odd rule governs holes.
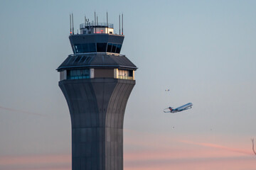
{"type": "Polygon", "coordinates": [[[256,1],[0,0],[0,169],[71,169],[55,70],[84,16],[114,24],[139,68],[124,116],[124,170],[255,170],[256,1]],[[166,92],[165,89],[170,89],[166,92]],[[181,113],[169,106],[193,103],[181,113]]]}

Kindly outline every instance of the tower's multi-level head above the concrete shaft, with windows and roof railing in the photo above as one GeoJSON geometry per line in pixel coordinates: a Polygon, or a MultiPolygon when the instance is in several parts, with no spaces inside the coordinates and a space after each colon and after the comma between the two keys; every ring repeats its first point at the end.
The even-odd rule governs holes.
{"type": "Polygon", "coordinates": [[[58,67],[60,81],[97,78],[134,80],[137,67],[125,55],[120,55],[124,35],[120,31],[114,34],[113,24],[82,23],[80,33],[70,31],[69,39],[74,54],[58,67]]]}

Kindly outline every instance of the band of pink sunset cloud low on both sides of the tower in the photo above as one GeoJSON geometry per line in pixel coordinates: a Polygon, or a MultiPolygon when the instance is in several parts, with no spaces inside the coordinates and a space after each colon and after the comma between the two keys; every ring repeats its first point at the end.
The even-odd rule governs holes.
{"type": "MultiPolygon", "coordinates": [[[[165,135],[136,135],[124,140],[125,170],[254,170],[255,155],[238,144],[178,140],[165,135]]],[[[199,141],[200,138],[196,138],[199,141]]],[[[70,170],[70,154],[0,157],[5,170],[70,170]]]]}

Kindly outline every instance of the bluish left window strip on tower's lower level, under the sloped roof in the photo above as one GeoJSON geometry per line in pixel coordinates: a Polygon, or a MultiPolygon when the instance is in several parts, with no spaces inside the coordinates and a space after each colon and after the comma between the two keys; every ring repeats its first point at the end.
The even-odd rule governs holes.
{"type": "Polygon", "coordinates": [[[67,79],[89,79],[90,69],[67,70],[67,79]]]}

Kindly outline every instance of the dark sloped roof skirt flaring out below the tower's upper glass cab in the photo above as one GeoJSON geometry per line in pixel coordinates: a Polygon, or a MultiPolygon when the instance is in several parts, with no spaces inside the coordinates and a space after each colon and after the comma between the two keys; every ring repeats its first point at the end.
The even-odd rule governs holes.
{"type": "Polygon", "coordinates": [[[68,58],[60,64],[58,71],[72,68],[126,68],[136,70],[137,67],[125,55],[111,54],[86,54],[86,55],[69,55],[68,58]]]}

